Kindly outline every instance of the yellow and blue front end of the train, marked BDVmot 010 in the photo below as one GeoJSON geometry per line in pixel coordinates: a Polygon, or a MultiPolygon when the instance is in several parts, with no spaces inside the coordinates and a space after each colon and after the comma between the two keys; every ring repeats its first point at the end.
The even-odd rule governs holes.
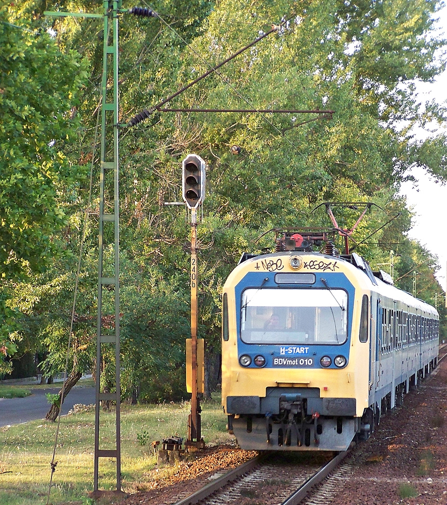
{"type": "Polygon", "coordinates": [[[270,255],[280,272],[248,260],[224,286],[222,405],[242,448],[340,451],[369,428],[369,279],[303,256],[299,272],[292,255],[270,255]],[[272,315],[282,329],[265,330],[272,315]]]}

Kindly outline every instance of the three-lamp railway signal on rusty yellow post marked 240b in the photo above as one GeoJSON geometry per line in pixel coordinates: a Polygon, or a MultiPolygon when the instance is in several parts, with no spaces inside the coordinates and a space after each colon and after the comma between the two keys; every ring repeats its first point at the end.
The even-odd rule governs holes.
{"type": "Polygon", "coordinates": [[[197,339],[197,209],[205,197],[205,162],[188,155],[182,163],[183,199],[191,210],[191,339],[187,339],[187,390],[191,393],[186,447],[204,447],[201,437],[200,398],[203,393],[203,339],[197,339]],[[189,386],[189,387],[188,387],[189,386]]]}

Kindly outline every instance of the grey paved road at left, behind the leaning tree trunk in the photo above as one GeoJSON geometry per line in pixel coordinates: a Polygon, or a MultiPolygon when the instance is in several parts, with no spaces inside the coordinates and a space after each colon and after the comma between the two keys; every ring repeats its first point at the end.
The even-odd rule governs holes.
{"type": "MultiPolygon", "coordinates": [[[[61,386],[30,389],[32,394],[25,398],[0,398],[0,427],[44,419],[50,407],[45,393],[58,393],[61,386]]],[[[75,386],[65,398],[62,414],[67,414],[75,403],[83,403],[84,405],[95,403],[95,388],[75,386]]]]}

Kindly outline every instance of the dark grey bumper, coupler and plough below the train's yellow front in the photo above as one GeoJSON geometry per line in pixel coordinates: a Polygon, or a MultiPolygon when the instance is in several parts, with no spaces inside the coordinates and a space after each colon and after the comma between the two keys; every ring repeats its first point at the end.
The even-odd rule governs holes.
{"type": "Polygon", "coordinates": [[[266,397],[229,396],[229,430],[241,448],[346,450],[362,420],[354,398],[320,398],[317,388],[267,388],[266,397]]]}

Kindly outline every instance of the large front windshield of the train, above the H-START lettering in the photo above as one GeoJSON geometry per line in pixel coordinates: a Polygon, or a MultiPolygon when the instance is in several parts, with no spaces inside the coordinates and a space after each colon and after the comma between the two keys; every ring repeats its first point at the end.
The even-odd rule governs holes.
{"type": "Polygon", "coordinates": [[[250,288],[242,293],[241,339],[249,344],[341,344],[348,338],[343,289],[250,288]]]}

